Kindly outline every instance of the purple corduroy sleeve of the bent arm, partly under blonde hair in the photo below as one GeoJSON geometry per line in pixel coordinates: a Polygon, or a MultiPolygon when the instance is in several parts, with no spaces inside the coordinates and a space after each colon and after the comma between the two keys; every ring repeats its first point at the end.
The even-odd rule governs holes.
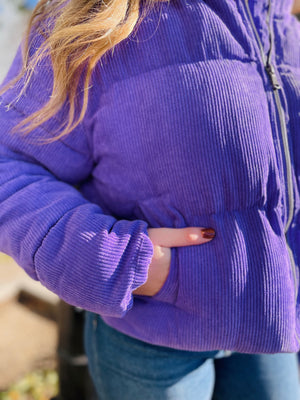
{"type": "MultiPolygon", "coordinates": [[[[17,55],[8,78],[20,61],[17,55]]],[[[51,144],[38,139],[53,134],[62,115],[29,136],[11,133],[47,99],[50,75],[44,63],[19,101],[10,105],[20,85],[1,96],[0,251],[66,302],[121,317],[147,279],[153,246],[146,223],[104,215],[73,187],[93,169],[84,122],[51,144]]]]}

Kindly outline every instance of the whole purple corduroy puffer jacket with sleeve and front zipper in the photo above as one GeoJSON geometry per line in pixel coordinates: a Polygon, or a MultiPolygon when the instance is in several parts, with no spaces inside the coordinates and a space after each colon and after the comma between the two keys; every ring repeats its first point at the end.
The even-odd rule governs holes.
{"type": "MultiPolygon", "coordinates": [[[[11,134],[51,93],[47,60],[1,97],[0,250],[66,302],[177,349],[299,349],[300,29],[289,0],[170,0],[97,65],[84,121],[65,108],[11,134]],[[212,227],[172,249],[154,297],[147,227],[212,227]]],[[[38,40],[38,39],[37,39],[38,40]]],[[[33,48],[34,48],[33,44],[33,48]]],[[[7,79],[20,68],[20,55],[7,79]]]]}

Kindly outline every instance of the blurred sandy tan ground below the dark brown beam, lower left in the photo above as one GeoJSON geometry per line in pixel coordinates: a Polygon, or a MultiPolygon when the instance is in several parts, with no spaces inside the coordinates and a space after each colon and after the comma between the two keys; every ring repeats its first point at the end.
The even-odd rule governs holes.
{"type": "Polygon", "coordinates": [[[56,323],[10,302],[0,307],[0,393],[25,374],[55,368],[56,323]]]}

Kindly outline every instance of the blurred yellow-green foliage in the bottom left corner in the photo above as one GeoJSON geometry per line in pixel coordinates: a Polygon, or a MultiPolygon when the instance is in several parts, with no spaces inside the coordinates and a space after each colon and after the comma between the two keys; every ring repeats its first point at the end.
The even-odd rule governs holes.
{"type": "Polygon", "coordinates": [[[56,371],[37,371],[26,375],[6,392],[0,400],[49,400],[58,393],[56,371]]]}

